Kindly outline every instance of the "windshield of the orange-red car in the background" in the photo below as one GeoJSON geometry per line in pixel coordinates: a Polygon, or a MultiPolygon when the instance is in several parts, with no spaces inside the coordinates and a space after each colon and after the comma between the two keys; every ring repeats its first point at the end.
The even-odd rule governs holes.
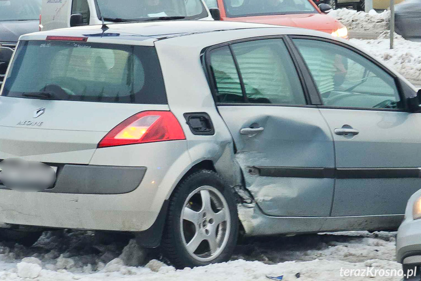
{"type": "Polygon", "coordinates": [[[309,0],[224,0],[229,18],[317,13],[309,0]]]}

